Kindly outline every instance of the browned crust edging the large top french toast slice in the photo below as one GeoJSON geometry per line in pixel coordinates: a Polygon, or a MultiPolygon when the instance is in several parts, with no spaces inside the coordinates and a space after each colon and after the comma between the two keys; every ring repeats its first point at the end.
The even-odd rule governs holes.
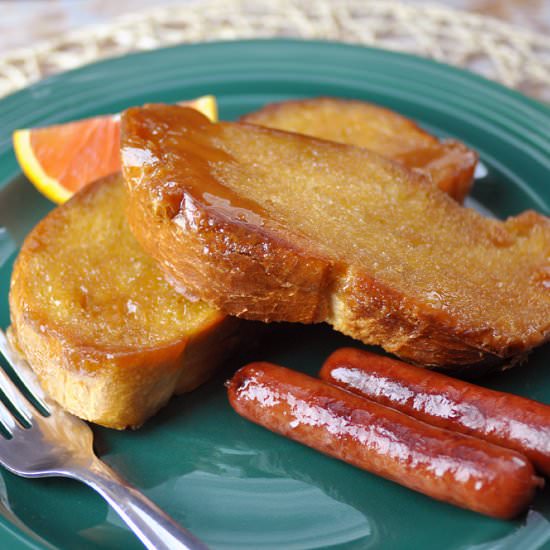
{"type": "MultiPolygon", "coordinates": [[[[137,136],[134,127],[139,125],[139,117],[145,117],[151,126],[156,116],[164,120],[163,116],[169,118],[170,113],[170,108],[163,106],[127,112],[123,116],[123,151],[124,147],[140,146],[141,137],[137,136]],[[163,109],[167,109],[168,113],[163,109]],[[149,116],[151,119],[148,119],[149,116]]],[[[201,196],[204,189],[197,184],[206,176],[201,171],[203,168],[193,165],[196,153],[193,149],[193,125],[197,121],[188,121],[187,115],[182,115],[178,119],[179,127],[185,128],[186,121],[189,128],[183,131],[186,139],[191,141],[189,148],[193,150],[193,156],[188,158],[189,162],[186,161],[185,181],[179,195],[181,200],[174,202],[178,208],[171,211],[171,216],[165,215],[165,208],[159,208],[159,202],[165,202],[159,193],[164,181],[162,174],[155,172],[156,168],[150,172],[150,167],[140,169],[135,163],[125,163],[124,154],[123,167],[130,189],[132,206],[129,220],[134,234],[143,247],[160,261],[163,269],[191,294],[200,296],[227,313],[247,319],[302,323],[327,321],[344,334],[367,344],[381,345],[387,351],[425,366],[467,367],[470,371],[479,371],[516,360],[521,354],[548,340],[550,302],[544,285],[540,285],[538,296],[542,301],[541,308],[546,307],[544,311],[547,314],[534,317],[532,326],[527,329],[508,330],[495,318],[487,318],[486,323],[472,324],[468,312],[436,307],[425,299],[404,294],[377,280],[362,267],[344,258],[331,256],[324,243],[308,240],[298,229],[281,228],[267,218],[261,222],[254,219],[243,221],[231,217],[226,208],[207,204],[201,196]]],[[[298,147],[300,144],[318,149],[328,147],[326,142],[313,138],[251,125],[224,123],[220,133],[217,133],[218,128],[212,130],[214,134],[210,136],[210,142],[210,137],[205,137],[210,128],[201,127],[196,134],[197,143],[205,148],[208,142],[214,144],[214,148],[227,151],[231,150],[231,144],[224,141],[224,132],[237,132],[243,136],[250,132],[252,141],[263,139],[266,135],[266,139],[272,137],[275,147],[287,140],[298,147]]],[[[345,145],[330,147],[351,159],[366,156],[380,163],[390,178],[405,177],[407,184],[403,188],[404,193],[413,197],[420,194],[426,208],[437,207],[448,211],[449,223],[456,223],[457,228],[463,229],[452,219],[458,218],[460,221],[466,211],[422,176],[404,172],[396,164],[382,162],[378,157],[356,148],[345,145]]],[[[160,158],[163,153],[159,151],[154,149],[150,154],[160,155],[160,158]]],[[[202,153],[209,154],[206,148],[201,149],[202,153]]],[[[223,173],[225,181],[232,177],[231,171],[239,171],[238,159],[232,158],[227,163],[230,174],[226,176],[223,173]]],[[[175,174],[171,173],[170,177],[171,181],[176,181],[175,174]]],[[[307,209],[308,205],[304,208],[307,209]]],[[[546,218],[536,213],[526,213],[503,223],[474,214],[467,214],[467,217],[472,219],[473,225],[464,236],[466,242],[475,241],[477,232],[483,230],[487,235],[483,238],[489,241],[484,246],[493,249],[498,259],[501,254],[498,250],[505,250],[515,240],[526,238],[531,241],[529,246],[535,243],[534,246],[543,251],[546,260],[535,267],[546,273],[544,262],[548,261],[550,254],[550,225],[546,218]]],[[[458,235],[457,238],[463,237],[458,235]]],[[[449,243],[449,246],[452,244],[449,243]]],[[[479,265],[481,268],[483,264],[479,265]]],[[[531,277],[533,273],[526,271],[526,275],[531,277]]],[[[533,281],[529,284],[539,283],[533,281]]],[[[499,296],[495,292],[495,300],[499,296]]],[[[475,296],[471,298],[475,301],[475,296]]],[[[528,306],[525,303],[525,307],[528,306]]]]}

